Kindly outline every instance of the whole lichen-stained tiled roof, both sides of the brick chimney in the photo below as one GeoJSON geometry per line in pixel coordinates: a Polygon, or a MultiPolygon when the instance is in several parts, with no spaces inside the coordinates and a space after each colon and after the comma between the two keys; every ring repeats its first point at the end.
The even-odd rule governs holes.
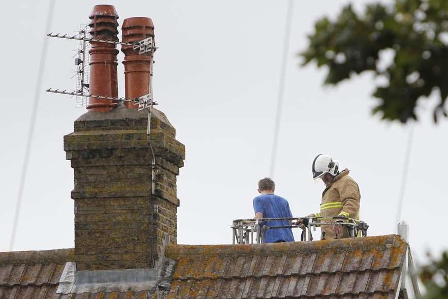
{"type": "MultiPolygon", "coordinates": [[[[168,245],[158,298],[395,298],[397,235],[258,245],[168,245]]],[[[155,298],[154,290],[56,294],[73,249],[0,253],[0,298],[155,298]]]]}

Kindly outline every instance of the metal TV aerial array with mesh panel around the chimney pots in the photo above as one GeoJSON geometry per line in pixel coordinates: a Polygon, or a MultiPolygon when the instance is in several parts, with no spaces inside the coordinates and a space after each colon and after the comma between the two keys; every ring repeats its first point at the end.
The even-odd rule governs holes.
{"type": "Polygon", "coordinates": [[[56,93],[69,95],[72,97],[76,97],[76,107],[84,107],[87,105],[88,98],[97,98],[97,99],[105,99],[105,100],[113,100],[116,102],[132,102],[134,105],[138,105],[138,110],[148,110],[153,106],[157,105],[155,101],[152,100],[152,67],[154,63],[154,52],[157,47],[154,44],[154,40],[152,37],[148,37],[133,43],[126,43],[114,40],[101,40],[92,38],[88,31],[88,25],[80,25],[79,32],[76,35],[68,35],[68,34],[54,34],[49,33],[47,37],[61,38],[61,39],[70,39],[78,41],[78,50],[75,55],[75,66],[76,70],[76,87],[74,91],[68,91],[67,89],[61,88],[48,88],[46,91],[48,93],[56,93]],[[144,95],[139,98],[125,98],[125,97],[110,97],[110,95],[94,95],[89,92],[89,49],[90,42],[98,42],[98,43],[107,43],[107,44],[115,44],[122,46],[132,46],[134,50],[139,50],[139,54],[148,54],[150,53],[150,77],[149,77],[149,85],[150,90],[149,94],[144,95]]]}

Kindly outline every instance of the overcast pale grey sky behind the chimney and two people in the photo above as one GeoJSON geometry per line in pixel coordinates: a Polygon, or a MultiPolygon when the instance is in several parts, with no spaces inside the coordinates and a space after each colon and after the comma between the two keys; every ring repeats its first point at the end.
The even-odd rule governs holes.
{"type": "MultiPolygon", "coordinates": [[[[368,1],[356,1],[361,8],[368,1]]],[[[269,172],[286,0],[109,1],[119,24],[134,16],[155,24],[154,96],[185,144],[178,177],[178,243],[228,244],[233,219],[253,215],[257,182],[269,172]]],[[[361,218],[370,235],[395,233],[409,127],[383,123],[370,111],[376,100],[370,74],[336,88],[323,87],[325,70],[300,68],[297,52],[323,15],[348,1],[296,1],[274,180],[295,216],[318,211],[323,184],[313,184],[319,153],[340,161],[361,188],[361,218]]],[[[96,1],[57,1],[52,32],[72,33],[96,1]]],[[[0,112],[0,251],[7,251],[37,76],[43,76],[33,150],[26,176],[15,250],[74,246],[73,170],[62,137],[85,108],[45,93],[71,89],[77,42],[51,39],[45,72],[37,73],[47,1],[4,4],[0,112]]],[[[121,32],[120,32],[121,35],[121,32]]],[[[122,60],[120,52],[118,59],[122,60]]],[[[119,90],[124,94],[123,67],[119,90]]],[[[418,260],[447,246],[446,153],[448,122],[431,121],[434,100],[421,100],[415,126],[402,218],[418,260]],[[426,221],[430,223],[427,225],[426,221]]],[[[296,239],[299,238],[296,232],[296,239]]]]}

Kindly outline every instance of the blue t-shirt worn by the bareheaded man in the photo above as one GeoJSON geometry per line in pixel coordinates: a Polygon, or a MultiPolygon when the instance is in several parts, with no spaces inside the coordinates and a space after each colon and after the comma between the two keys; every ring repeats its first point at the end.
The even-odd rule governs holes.
{"type": "MultiPolygon", "coordinates": [[[[283,197],[275,194],[262,194],[253,199],[255,213],[263,213],[263,218],[291,218],[290,205],[283,197]]],[[[289,220],[266,221],[266,226],[290,225],[289,220]]],[[[288,228],[267,229],[264,235],[264,243],[274,243],[283,240],[294,242],[293,231],[288,228]]]]}

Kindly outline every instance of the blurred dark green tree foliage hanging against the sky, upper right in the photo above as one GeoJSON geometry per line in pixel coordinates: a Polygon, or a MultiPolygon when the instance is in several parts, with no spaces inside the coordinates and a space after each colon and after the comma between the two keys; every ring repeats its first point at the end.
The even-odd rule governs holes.
{"type": "Polygon", "coordinates": [[[314,29],[300,55],[303,65],[314,61],[318,67],[328,67],[325,84],[371,71],[387,79],[373,93],[380,100],[373,113],[381,112],[382,119],[417,120],[417,100],[436,91],[440,102],[434,108],[434,121],[447,116],[447,0],[395,0],[390,6],[368,5],[363,13],[347,5],[335,20],[324,17],[314,29]],[[395,53],[393,62],[379,69],[380,53],[386,49],[395,53]]]}

